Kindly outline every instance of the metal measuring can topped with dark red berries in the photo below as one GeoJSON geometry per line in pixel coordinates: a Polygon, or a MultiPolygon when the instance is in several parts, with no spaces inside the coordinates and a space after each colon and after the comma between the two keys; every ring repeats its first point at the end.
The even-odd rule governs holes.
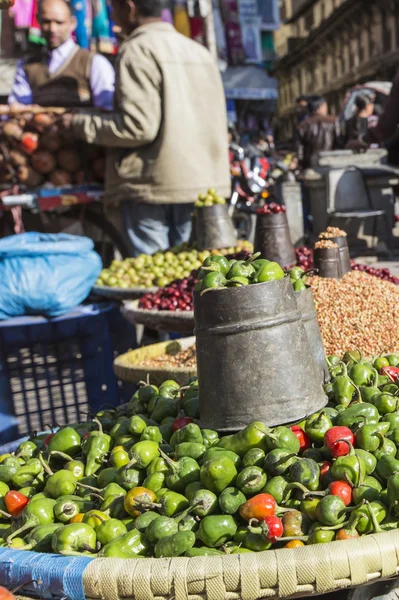
{"type": "Polygon", "coordinates": [[[296,263],[287,213],[258,215],[256,220],[255,252],[278,262],[283,267],[296,263]]]}

